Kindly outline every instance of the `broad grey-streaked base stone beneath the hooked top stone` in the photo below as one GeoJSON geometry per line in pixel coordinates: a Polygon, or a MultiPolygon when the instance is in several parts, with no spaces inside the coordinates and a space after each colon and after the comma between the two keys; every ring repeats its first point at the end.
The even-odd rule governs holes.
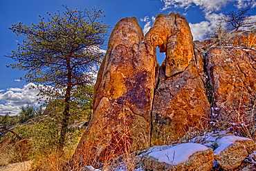
{"type": "Polygon", "coordinates": [[[195,127],[203,130],[210,117],[210,103],[203,81],[192,61],[182,73],[161,81],[152,110],[152,144],[163,145],[182,137],[195,127]]]}

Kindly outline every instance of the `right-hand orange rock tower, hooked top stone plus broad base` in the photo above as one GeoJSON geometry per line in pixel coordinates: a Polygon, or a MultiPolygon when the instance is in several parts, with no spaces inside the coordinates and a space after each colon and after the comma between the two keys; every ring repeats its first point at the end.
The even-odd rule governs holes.
{"type": "Polygon", "coordinates": [[[179,14],[160,14],[152,30],[161,25],[170,33],[167,34],[166,59],[160,68],[154,95],[152,145],[179,139],[191,127],[203,129],[203,118],[210,117],[210,103],[199,76],[203,67],[196,68],[200,63],[194,58],[188,22],[179,14]]]}

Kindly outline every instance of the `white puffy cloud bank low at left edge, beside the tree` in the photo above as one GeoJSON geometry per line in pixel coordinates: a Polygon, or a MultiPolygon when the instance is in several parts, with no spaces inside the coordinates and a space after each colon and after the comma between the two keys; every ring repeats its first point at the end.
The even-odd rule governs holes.
{"type": "Polygon", "coordinates": [[[23,88],[8,88],[0,92],[0,114],[9,113],[12,115],[20,112],[22,105],[37,105],[37,94],[39,90],[32,89],[34,83],[28,83],[23,88]]]}

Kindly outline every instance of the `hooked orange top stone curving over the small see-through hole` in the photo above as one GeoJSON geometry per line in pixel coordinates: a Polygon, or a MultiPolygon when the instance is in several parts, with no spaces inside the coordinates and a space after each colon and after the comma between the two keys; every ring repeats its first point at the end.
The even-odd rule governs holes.
{"type": "Polygon", "coordinates": [[[173,12],[169,15],[159,14],[154,26],[162,26],[167,32],[166,45],[160,46],[161,52],[166,53],[166,59],[163,62],[165,76],[172,77],[176,73],[185,71],[194,54],[193,37],[187,20],[173,12]]]}

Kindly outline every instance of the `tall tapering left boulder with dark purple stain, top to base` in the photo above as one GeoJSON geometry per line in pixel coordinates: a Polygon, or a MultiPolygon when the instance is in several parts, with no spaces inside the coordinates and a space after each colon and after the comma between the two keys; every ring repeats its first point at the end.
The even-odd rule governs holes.
{"type": "Polygon", "coordinates": [[[158,43],[143,40],[134,17],[113,28],[95,85],[93,116],[71,168],[149,147],[158,43]]]}

